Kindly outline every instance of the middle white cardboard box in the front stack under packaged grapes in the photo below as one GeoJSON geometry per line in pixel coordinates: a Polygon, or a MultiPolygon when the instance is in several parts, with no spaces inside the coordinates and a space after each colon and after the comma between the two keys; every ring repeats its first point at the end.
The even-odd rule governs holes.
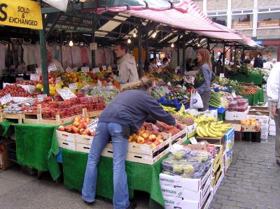
{"type": "Polygon", "coordinates": [[[208,192],[211,185],[211,176],[198,192],[183,189],[182,187],[161,187],[163,196],[181,197],[186,201],[195,201],[202,203],[204,195],[208,192]]]}

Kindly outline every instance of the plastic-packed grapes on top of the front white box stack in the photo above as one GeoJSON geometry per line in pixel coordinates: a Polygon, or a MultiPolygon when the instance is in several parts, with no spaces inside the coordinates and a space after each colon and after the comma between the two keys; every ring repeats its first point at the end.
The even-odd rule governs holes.
{"type": "Polygon", "coordinates": [[[201,178],[211,166],[211,154],[203,150],[191,150],[179,145],[162,161],[162,173],[180,175],[183,178],[201,178]]]}

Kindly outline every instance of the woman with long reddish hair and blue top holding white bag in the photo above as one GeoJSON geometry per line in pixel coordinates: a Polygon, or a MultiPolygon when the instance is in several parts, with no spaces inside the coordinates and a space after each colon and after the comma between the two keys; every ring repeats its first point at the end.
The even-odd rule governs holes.
{"type": "Polygon", "coordinates": [[[200,71],[204,81],[200,87],[196,87],[196,91],[200,94],[203,102],[203,108],[200,111],[208,110],[210,100],[210,86],[212,78],[212,63],[210,53],[206,48],[201,48],[197,53],[197,62],[200,64],[200,71]]]}

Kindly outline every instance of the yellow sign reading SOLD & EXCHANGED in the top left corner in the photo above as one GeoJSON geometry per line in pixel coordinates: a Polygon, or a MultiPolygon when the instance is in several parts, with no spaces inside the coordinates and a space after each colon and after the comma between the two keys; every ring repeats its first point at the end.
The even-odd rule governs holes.
{"type": "Polygon", "coordinates": [[[43,29],[40,3],[29,0],[0,0],[0,24],[43,29]]]}

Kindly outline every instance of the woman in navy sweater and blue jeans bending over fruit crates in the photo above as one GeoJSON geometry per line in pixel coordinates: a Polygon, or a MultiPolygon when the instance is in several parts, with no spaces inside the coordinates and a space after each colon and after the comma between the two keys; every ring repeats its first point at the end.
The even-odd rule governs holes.
{"type": "Polygon", "coordinates": [[[162,122],[176,124],[174,117],[165,112],[151,96],[153,81],[141,78],[123,87],[99,116],[99,124],[90,147],[83,182],[82,196],[87,204],[94,203],[97,184],[97,165],[100,154],[109,138],[113,143],[113,208],[136,208],[129,201],[125,159],[127,155],[128,138],[137,133],[144,121],[148,120],[162,127],[162,122]],[[160,122],[161,121],[161,122],[160,122]]]}

